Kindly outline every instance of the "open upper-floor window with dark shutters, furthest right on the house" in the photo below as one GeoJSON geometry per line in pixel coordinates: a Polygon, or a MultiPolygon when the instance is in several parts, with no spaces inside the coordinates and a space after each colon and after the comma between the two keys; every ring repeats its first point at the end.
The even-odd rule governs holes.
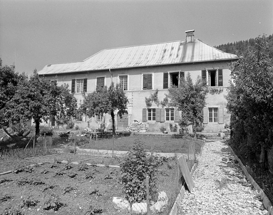
{"type": "Polygon", "coordinates": [[[207,82],[207,85],[209,87],[222,87],[223,70],[222,69],[202,70],[202,79],[207,82]]]}

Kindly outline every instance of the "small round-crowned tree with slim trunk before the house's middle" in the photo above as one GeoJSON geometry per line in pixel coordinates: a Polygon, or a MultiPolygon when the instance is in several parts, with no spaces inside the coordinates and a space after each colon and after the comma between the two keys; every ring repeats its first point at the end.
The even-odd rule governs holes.
{"type": "Polygon", "coordinates": [[[118,114],[122,117],[122,114],[126,113],[128,99],[120,84],[111,82],[110,87],[107,86],[96,88],[91,94],[87,96],[84,94],[83,104],[81,109],[90,118],[95,115],[108,113],[112,119],[113,135],[115,134],[114,125],[114,112],[119,110],[118,114]]]}

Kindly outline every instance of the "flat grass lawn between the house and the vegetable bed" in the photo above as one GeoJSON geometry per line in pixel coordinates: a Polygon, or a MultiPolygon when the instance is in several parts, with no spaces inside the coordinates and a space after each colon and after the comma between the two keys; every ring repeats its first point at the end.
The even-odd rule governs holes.
{"type": "MultiPolygon", "coordinates": [[[[114,139],[114,150],[117,151],[129,151],[133,147],[136,139],[141,139],[144,143],[144,149],[148,152],[164,152],[164,153],[187,153],[188,145],[193,144],[193,140],[186,139],[174,139],[167,137],[122,137],[114,139]]],[[[97,141],[92,141],[85,146],[80,148],[85,149],[102,149],[102,150],[112,150],[113,139],[102,139],[97,141]]],[[[200,140],[196,141],[196,152],[200,153],[201,148],[204,143],[200,140]]]]}

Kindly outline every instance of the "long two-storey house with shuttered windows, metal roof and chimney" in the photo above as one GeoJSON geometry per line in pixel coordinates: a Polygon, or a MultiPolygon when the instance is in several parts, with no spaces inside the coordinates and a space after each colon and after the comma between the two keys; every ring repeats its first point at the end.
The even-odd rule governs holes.
{"type": "MultiPolygon", "coordinates": [[[[175,107],[163,107],[152,102],[147,106],[145,97],[158,92],[162,101],[168,89],[179,84],[181,76],[190,73],[192,80],[201,76],[207,81],[210,93],[204,108],[205,132],[218,132],[229,124],[224,95],[230,80],[229,64],[236,55],[224,53],[194,38],[194,30],[186,31],[186,39],[143,46],[102,50],[81,62],[49,64],[41,71],[58,84],[69,84],[71,93],[80,106],[82,93],[92,93],[96,86],[109,86],[111,81],[121,83],[128,97],[128,114],[116,115],[116,127],[123,130],[133,120],[145,122],[149,131],[169,127],[179,122],[175,107]]],[[[80,127],[98,127],[110,124],[110,116],[99,115],[89,119],[79,113],[75,123],[80,127]]],[[[54,117],[50,124],[54,123],[54,117]]]]}

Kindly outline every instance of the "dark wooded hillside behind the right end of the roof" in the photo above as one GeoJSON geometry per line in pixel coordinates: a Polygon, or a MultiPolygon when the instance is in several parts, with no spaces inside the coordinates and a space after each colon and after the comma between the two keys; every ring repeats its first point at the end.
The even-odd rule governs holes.
{"type": "MultiPolygon", "coordinates": [[[[273,34],[266,37],[268,41],[268,51],[267,54],[270,58],[273,59],[273,34]]],[[[237,54],[243,55],[246,53],[247,49],[254,50],[255,46],[255,39],[250,38],[247,40],[240,40],[236,42],[228,42],[227,44],[222,44],[219,46],[215,46],[216,49],[219,49],[223,52],[230,53],[230,54],[237,54]]]]}

